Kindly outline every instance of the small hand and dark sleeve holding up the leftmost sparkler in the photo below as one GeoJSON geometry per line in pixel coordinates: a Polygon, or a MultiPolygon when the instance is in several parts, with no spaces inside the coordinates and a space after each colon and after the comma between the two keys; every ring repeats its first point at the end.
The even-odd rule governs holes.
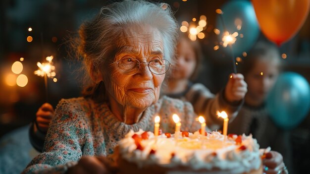
{"type": "Polygon", "coordinates": [[[49,103],[43,104],[39,108],[36,119],[29,129],[30,142],[39,152],[42,152],[45,136],[53,116],[54,109],[52,105],[49,103]]]}

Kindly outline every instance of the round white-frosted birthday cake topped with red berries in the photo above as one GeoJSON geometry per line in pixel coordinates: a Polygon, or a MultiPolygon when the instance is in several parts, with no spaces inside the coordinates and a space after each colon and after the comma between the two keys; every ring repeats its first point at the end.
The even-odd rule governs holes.
{"type": "Polygon", "coordinates": [[[262,174],[252,135],[130,131],[116,154],[121,174],[262,174]]]}

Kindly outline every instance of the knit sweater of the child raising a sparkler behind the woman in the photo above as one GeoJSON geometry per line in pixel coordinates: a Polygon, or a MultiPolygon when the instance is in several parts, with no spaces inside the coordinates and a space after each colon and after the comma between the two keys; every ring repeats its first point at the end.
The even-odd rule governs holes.
{"type": "Polygon", "coordinates": [[[223,119],[219,119],[218,116],[216,116],[217,111],[225,111],[229,120],[233,120],[244,102],[242,100],[241,102],[230,103],[224,97],[224,90],[214,95],[205,85],[201,83],[193,84],[191,82],[188,84],[187,89],[181,93],[164,95],[190,102],[197,115],[206,117],[207,126],[211,130],[220,129],[223,124],[223,119]]]}

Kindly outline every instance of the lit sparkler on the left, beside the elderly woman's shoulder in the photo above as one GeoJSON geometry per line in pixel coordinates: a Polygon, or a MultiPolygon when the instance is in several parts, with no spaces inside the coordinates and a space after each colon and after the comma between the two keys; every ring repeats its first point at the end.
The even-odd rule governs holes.
{"type": "Polygon", "coordinates": [[[45,92],[46,92],[46,98],[47,101],[49,101],[49,95],[48,95],[48,78],[53,78],[55,73],[55,66],[52,62],[53,56],[49,56],[46,58],[48,62],[37,62],[37,66],[39,67],[38,70],[34,71],[34,73],[38,76],[44,77],[44,84],[45,84],[45,92]]]}

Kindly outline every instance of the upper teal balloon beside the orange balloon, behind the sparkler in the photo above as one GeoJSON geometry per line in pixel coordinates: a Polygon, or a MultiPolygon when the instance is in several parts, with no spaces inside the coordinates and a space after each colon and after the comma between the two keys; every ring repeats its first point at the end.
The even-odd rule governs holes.
{"type": "Polygon", "coordinates": [[[222,41],[224,31],[228,31],[229,34],[239,33],[236,42],[232,44],[233,53],[229,46],[221,49],[228,55],[241,56],[243,52],[249,51],[258,40],[260,29],[254,7],[247,0],[231,0],[225,3],[221,10],[223,14],[218,14],[216,19],[216,28],[220,30],[219,41],[222,41]],[[236,24],[241,24],[240,30],[237,29],[236,24]]]}

